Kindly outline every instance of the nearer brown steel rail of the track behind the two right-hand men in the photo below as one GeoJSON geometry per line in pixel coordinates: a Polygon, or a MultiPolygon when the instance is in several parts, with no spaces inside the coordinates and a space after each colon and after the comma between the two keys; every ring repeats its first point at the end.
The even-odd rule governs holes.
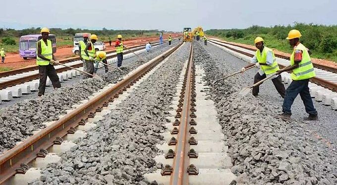
{"type": "MultiPolygon", "coordinates": [[[[215,40],[215,41],[218,41],[218,40],[215,40]]],[[[249,57],[253,57],[253,56],[254,56],[254,55],[251,54],[251,53],[247,53],[247,52],[244,52],[244,51],[241,51],[241,50],[238,50],[238,49],[229,47],[229,46],[227,46],[227,45],[225,45],[225,44],[217,43],[217,42],[214,42],[214,41],[212,41],[212,40],[210,40],[210,42],[215,43],[215,44],[218,44],[218,45],[221,45],[221,46],[224,46],[224,47],[226,47],[226,48],[228,48],[228,49],[230,49],[230,50],[233,50],[233,51],[235,51],[235,52],[244,54],[244,55],[249,56],[249,57]]],[[[221,41],[218,41],[218,42],[221,42],[221,41]]],[[[222,43],[225,43],[225,42],[222,42],[222,43]]],[[[233,45],[233,44],[231,44],[231,45],[233,45]]],[[[241,47],[241,46],[239,46],[239,45],[235,45],[235,46],[241,47]]],[[[246,48],[246,47],[242,47],[242,48],[246,48]]],[[[251,50],[251,49],[250,49],[250,50],[251,50]]],[[[275,55],[275,56],[276,56],[276,55],[275,55]]],[[[315,65],[314,65],[314,66],[315,66],[315,65]]],[[[282,69],[282,68],[285,68],[286,66],[279,64],[279,67],[282,69]]],[[[291,72],[288,72],[288,73],[291,73],[291,72]]],[[[333,72],[333,73],[334,73],[334,72],[333,72]]],[[[324,87],[324,88],[328,88],[328,89],[330,89],[330,90],[332,90],[332,91],[334,91],[334,92],[337,92],[337,83],[334,83],[334,82],[332,82],[332,81],[329,81],[329,80],[326,80],[326,79],[323,79],[323,78],[320,78],[320,77],[317,77],[317,76],[310,78],[310,81],[313,82],[313,83],[316,83],[317,85],[320,85],[320,86],[322,86],[322,87],[324,87]]]]}

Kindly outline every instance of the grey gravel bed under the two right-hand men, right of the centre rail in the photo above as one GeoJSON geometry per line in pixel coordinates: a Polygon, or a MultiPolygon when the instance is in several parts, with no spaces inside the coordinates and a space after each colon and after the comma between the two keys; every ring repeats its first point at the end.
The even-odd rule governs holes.
{"type": "Polygon", "coordinates": [[[292,109],[296,111],[295,121],[276,119],[273,114],[281,112],[282,99],[272,83],[263,84],[259,98],[254,98],[251,93],[246,97],[237,94],[252,83],[256,71],[212,85],[215,78],[238,71],[247,63],[211,44],[205,47],[202,42],[196,42],[194,46],[194,60],[204,67],[211,86],[210,95],[220,115],[233,164],[231,171],[238,176],[236,184],[337,184],[335,148],[314,135],[320,132],[316,129],[319,124],[331,124],[334,120],[336,124],[335,111],[324,117],[328,108],[315,104],[320,120],[305,123],[301,121],[306,115],[304,106],[296,100],[292,109]],[[308,125],[316,127],[309,129],[308,125]]]}

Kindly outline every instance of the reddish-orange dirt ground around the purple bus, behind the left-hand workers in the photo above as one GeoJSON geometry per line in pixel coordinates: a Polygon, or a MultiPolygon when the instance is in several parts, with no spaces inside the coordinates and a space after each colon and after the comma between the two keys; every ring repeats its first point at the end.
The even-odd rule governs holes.
{"type": "MultiPolygon", "coordinates": [[[[177,37],[177,34],[171,34],[172,37],[177,37]]],[[[164,39],[169,37],[169,34],[164,35],[164,39]]],[[[159,41],[159,36],[158,37],[137,37],[133,39],[126,39],[123,41],[124,45],[127,46],[133,46],[133,45],[138,45],[138,44],[145,44],[148,41],[154,42],[154,41],[159,41]]],[[[111,46],[109,45],[109,42],[106,42],[106,51],[111,51],[114,50],[114,40],[112,41],[111,46]]],[[[57,47],[55,57],[57,60],[61,59],[66,59],[69,57],[74,57],[76,56],[75,54],[72,53],[72,45],[68,46],[62,46],[62,47],[57,47]]],[[[0,67],[7,67],[7,68],[12,68],[14,69],[19,69],[19,68],[24,68],[32,65],[36,65],[36,59],[27,59],[24,60],[23,58],[20,57],[18,53],[7,53],[7,57],[5,58],[4,64],[0,63],[0,67]]]]}

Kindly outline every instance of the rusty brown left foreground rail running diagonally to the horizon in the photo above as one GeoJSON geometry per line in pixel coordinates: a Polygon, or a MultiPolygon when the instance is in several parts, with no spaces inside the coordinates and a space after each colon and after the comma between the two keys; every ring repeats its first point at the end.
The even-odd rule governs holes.
{"type": "Polygon", "coordinates": [[[38,157],[45,157],[48,153],[48,148],[60,145],[64,136],[74,134],[76,127],[85,125],[95,114],[100,114],[100,112],[104,111],[109,106],[109,103],[113,102],[114,98],[118,98],[119,95],[123,94],[127,88],[130,88],[155,68],[156,65],[178,49],[181,44],[142,65],[118,83],[109,84],[105,90],[96,94],[88,102],[69,111],[68,114],[62,116],[47,128],[0,155],[0,184],[7,182],[15,174],[26,173],[32,161],[38,157]]]}

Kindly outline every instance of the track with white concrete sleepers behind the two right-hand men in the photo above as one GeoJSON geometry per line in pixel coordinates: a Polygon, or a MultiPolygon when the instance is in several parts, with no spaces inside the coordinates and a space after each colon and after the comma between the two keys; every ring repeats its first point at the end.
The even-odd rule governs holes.
{"type": "MultiPolygon", "coordinates": [[[[209,39],[212,44],[217,46],[222,46],[228,49],[231,52],[234,52],[234,55],[250,62],[250,58],[254,56],[255,51],[251,48],[242,47],[236,44],[229,44],[224,41],[219,41],[215,39],[209,39]],[[236,54],[235,54],[236,53],[236,54]]],[[[280,68],[284,68],[290,65],[289,57],[278,55],[278,63],[280,68]],[[280,58],[281,57],[281,58],[280,58]]],[[[332,109],[337,110],[337,72],[336,69],[322,65],[315,65],[316,76],[310,78],[311,83],[309,83],[310,93],[312,98],[315,98],[316,101],[322,102],[323,105],[331,106],[332,109]],[[324,69],[328,69],[325,71],[324,69]]],[[[290,73],[290,72],[289,72],[290,73]]],[[[289,73],[282,73],[282,81],[284,83],[290,83],[291,77],[289,73]]]]}

